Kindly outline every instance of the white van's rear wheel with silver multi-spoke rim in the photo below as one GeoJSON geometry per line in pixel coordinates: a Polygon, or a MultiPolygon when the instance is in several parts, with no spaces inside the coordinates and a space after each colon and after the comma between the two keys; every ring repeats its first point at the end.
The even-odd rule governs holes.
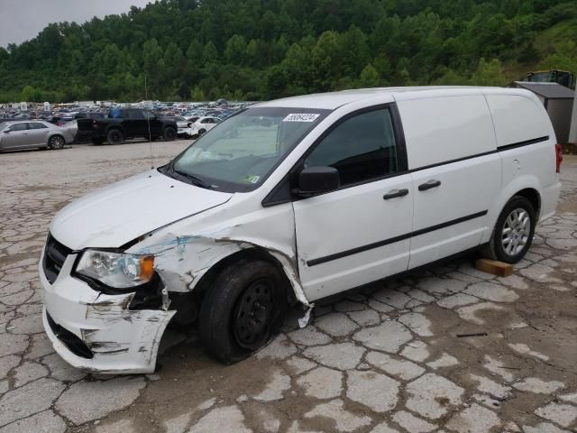
{"type": "Polygon", "coordinates": [[[481,254],[505,263],[519,262],[531,247],[535,226],[536,210],[528,198],[511,198],[497,219],[489,244],[481,248],[481,254]]]}

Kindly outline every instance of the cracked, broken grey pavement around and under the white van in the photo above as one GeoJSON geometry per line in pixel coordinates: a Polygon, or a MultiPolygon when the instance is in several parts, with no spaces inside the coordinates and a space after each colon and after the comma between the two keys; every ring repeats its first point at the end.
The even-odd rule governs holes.
{"type": "MultiPolygon", "coordinates": [[[[153,143],[153,164],[187,143],[153,143]]],[[[0,433],[577,431],[576,157],[557,216],[508,278],[464,258],[319,305],[239,364],[173,329],[158,373],[82,373],[42,331],[47,228],[151,163],[148,143],[0,154],[0,433]],[[456,336],[468,333],[487,336],[456,336]]]]}

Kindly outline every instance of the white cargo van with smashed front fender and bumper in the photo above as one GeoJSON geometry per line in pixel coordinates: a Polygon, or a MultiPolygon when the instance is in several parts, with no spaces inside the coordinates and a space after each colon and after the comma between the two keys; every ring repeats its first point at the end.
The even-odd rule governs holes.
{"type": "Polygon", "coordinates": [[[40,264],[44,327],[90,371],[152,372],[170,320],[196,322],[206,351],[234,363],[289,308],[307,318],[316,299],[468,250],[516,263],[554,214],[560,154],[522,89],[251,106],[60,211],[40,264]]]}

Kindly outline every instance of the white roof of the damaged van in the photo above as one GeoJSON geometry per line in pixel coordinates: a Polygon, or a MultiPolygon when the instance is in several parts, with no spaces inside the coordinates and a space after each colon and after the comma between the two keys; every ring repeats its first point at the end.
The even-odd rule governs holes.
{"type": "Polygon", "coordinates": [[[285,97],[263,102],[255,106],[278,106],[278,107],[310,107],[319,109],[334,110],[339,106],[345,106],[365,99],[372,99],[382,95],[390,95],[397,99],[410,99],[411,96],[423,97],[423,92],[431,97],[454,97],[458,95],[481,95],[481,94],[508,94],[527,95],[527,90],[516,88],[486,88],[471,86],[419,86],[401,88],[358,88],[354,90],[341,90],[338,92],[316,93],[312,95],[302,95],[299,97],[285,97]]]}

